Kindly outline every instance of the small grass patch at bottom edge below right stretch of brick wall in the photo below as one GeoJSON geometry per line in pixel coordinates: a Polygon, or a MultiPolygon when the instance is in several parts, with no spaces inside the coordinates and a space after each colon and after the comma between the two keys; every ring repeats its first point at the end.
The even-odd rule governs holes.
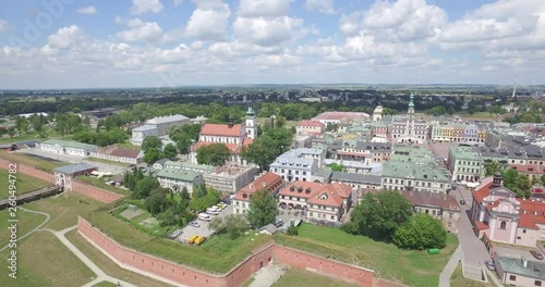
{"type": "Polygon", "coordinates": [[[350,287],[358,286],[356,284],[346,283],[343,280],[335,279],[331,277],[323,276],[314,272],[290,269],[278,279],[271,287],[299,287],[299,286],[313,286],[313,287],[350,287]],[[304,283],[304,284],[303,284],[304,283]]]}

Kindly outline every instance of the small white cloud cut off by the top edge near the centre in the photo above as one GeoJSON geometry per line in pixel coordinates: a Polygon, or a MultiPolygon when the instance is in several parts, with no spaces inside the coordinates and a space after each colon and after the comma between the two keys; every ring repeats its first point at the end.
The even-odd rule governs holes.
{"type": "Polygon", "coordinates": [[[287,15],[293,0],[240,0],[239,16],[276,17],[287,15]]]}

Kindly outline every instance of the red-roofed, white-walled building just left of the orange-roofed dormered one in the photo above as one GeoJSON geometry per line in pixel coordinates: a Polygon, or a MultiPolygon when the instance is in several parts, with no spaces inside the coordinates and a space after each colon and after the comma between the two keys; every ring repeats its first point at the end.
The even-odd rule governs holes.
{"type": "Polygon", "coordinates": [[[250,199],[256,191],[266,189],[269,194],[276,197],[278,190],[280,190],[283,184],[283,179],[279,175],[271,172],[257,177],[254,182],[237,191],[233,198],[233,213],[247,213],[247,210],[250,209],[250,199]]]}

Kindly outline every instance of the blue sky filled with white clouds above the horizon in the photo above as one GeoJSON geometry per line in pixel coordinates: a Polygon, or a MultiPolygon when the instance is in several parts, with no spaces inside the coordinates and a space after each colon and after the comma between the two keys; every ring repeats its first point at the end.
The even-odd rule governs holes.
{"type": "Polygon", "coordinates": [[[544,0],[17,0],[0,89],[545,84],[544,0]]]}

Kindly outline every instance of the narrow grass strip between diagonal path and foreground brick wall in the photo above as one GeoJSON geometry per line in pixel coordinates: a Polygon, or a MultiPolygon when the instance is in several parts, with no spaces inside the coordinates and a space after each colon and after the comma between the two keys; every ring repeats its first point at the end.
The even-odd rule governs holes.
{"type": "MultiPolygon", "coordinates": [[[[129,283],[132,283],[136,286],[146,286],[146,287],[168,287],[170,285],[152,279],[138,273],[134,273],[128,270],[120,267],[116,262],[111,261],[108,257],[106,257],[102,252],[92,246],[77,230],[72,230],[66,234],[66,238],[80,249],[86,257],[88,257],[95,264],[100,266],[100,269],[106,272],[106,274],[116,277],[123,278],[129,283]]],[[[95,285],[99,286],[99,285],[95,285]]],[[[106,285],[107,286],[107,285],[106,285]]]]}

